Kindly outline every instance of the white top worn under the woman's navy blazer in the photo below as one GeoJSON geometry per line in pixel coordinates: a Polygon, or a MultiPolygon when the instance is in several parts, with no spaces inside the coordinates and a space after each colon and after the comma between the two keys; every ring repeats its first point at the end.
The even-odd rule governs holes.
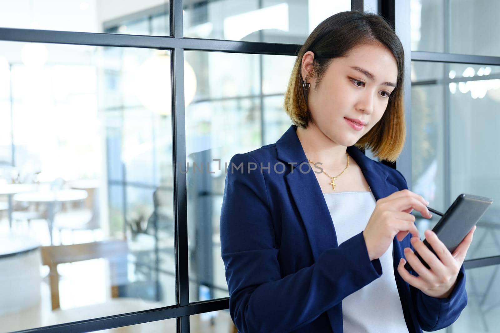
{"type": "MultiPolygon", "coordinates": [[[[371,192],[323,193],[335,227],[337,244],[364,230],[375,209],[371,192]]],[[[342,300],[343,331],[408,332],[397,293],[392,265],[392,243],[379,258],[382,275],[342,300]]]]}

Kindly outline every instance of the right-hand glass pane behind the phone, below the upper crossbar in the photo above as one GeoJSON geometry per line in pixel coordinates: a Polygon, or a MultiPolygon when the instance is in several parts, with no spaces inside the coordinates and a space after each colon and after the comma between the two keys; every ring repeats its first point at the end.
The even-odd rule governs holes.
{"type": "MultiPolygon", "coordinates": [[[[412,190],[441,212],[461,193],[493,199],[477,223],[467,260],[500,254],[500,160],[493,152],[494,143],[500,141],[496,67],[441,64],[446,69],[436,80],[416,81],[411,89],[412,190]],[[445,110],[449,110],[448,123],[444,123],[445,110]]],[[[418,219],[417,226],[423,232],[437,221],[438,217],[418,219]]]]}

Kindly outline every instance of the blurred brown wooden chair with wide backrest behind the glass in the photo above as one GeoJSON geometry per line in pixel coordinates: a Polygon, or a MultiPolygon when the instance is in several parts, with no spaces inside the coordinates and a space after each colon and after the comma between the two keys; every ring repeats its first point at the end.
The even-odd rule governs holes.
{"type": "MultiPolygon", "coordinates": [[[[58,309],[59,305],[59,275],[57,265],[72,263],[76,261],[106,258],[109,260],[111,274],[111,297],[118,297],[119,277],[126,276],[126,256],[128,246],[126,241],[107,240],[100,242],[42,246],[40,247],[42,265],[47,265],[50,269],[50,294],[52,310],[58,309]]],[[[125,281],[126,282],[126,281],[125,281]]]]}

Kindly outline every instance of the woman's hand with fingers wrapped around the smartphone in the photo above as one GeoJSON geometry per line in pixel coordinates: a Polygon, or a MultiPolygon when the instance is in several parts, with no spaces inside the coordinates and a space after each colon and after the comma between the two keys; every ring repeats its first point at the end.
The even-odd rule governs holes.
{"type": "Polygon", "coordinates": [[[447,298],[453,291],[456,283],[456,277],[460,271],[467,250],[472,242],[472,235],[475,226],[469,231],[467,236],[460,242],[458,247],[451,254],[444,244],[437,238],[436,234],[430,230],[425,231],[425,239],[432,247],[437,257],[423,244],[420,239],[412,237],[410,242],[416,252],[429,265],[427,269],[410,248],[404,249],[404,256],[411,265],[413,271],[418,274],[415,277],[404,269],[406,261],[401,258],[397,271],[401,278],[409,285],[418,288],[425,295],[436,298],[447,298]],[[438,258],[439,257],[439,258],[438,258]]]}

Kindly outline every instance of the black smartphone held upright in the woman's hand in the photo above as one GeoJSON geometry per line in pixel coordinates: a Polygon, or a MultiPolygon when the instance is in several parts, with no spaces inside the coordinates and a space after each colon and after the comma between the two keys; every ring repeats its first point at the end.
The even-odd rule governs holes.
{"type": "MultiPolygon", "coordinates": [[[[493,200],[490,198],[462,193],[449,206],[432,231],[449,252],[453,253],[492,203],[493,200]]],[[[423,244],[435,255],[434,250],[432,250],[432,247],[426,240],[423,240],[423,244]]],[[[427,265],[418,253],[416,251],[414,253],[420,262],[427,269],[430,269],[429,265],[427,265]]],[[[404,264],[404,268],[407,271],[413,271],[408,262],[404,264]]]]}

